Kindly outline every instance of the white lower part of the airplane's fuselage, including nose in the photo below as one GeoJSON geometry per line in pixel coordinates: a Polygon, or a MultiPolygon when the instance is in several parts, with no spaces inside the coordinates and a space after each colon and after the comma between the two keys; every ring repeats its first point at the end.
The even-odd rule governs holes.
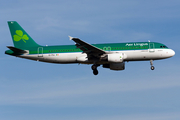
{"type": "MultiPolygon", "coordinates": [[[[111,51],[107,54],[124,53],[123,61],[144,61],[144,60],[159,60],[166,59],[174,56],[175,52],[172,49],[147,49],[147,50],[124,50],[124,51],[111,51]]],[[[17,57],[37,60],[49,63],[83,63],[93,64],[89,61],[86,53],[73,52],[73,53],[48,53],[48,54],[24,54],[17,57]]],[[[101,62],[104,64],[108,62],[101,62]]]]}

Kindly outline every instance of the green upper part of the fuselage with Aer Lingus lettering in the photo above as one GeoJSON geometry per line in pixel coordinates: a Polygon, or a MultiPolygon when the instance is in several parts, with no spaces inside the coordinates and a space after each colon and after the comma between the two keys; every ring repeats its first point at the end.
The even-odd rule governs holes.
{"type": "MultiPolygon", "coordinates": [[[[144,50],[144,49],[167,49],[164,44],[156,42],[134,42],[134,43],[105,43],[105,44],[92,44],[104,51],[124,51],[124,50],[144,50]],[[163,47],[165,46],[165,47],[163,47]]],[[[73,53],[82,52],[75,45],[59,45],[59,46],[42,46],[38,47],[43,49],[44,54],[53,53],[73,53]]],[[[30,48],[30,54],[38,54],[38,48],[30,48]]]]}

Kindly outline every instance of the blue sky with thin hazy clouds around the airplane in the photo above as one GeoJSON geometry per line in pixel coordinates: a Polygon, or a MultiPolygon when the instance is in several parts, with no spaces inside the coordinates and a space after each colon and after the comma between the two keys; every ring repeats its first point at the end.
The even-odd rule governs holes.
{"type": "Polygon", "coordinates": [[[179,120],[179,0],[1,0],[0,119],[179,120]],[[4,54],[17,21],[40,45],[160,42],[172,58],[128,62],[126,70],[50,64],[4,54]]]}

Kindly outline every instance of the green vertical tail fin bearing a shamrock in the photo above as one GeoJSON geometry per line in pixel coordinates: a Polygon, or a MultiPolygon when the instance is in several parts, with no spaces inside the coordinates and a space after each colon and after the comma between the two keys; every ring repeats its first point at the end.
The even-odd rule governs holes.
{"type": "Polygon", "coordinates": [[[19,49],[28,49],[30,47],[39,47],[26,31],[16,22],[8,21],[14,46],[19,49]]]}

